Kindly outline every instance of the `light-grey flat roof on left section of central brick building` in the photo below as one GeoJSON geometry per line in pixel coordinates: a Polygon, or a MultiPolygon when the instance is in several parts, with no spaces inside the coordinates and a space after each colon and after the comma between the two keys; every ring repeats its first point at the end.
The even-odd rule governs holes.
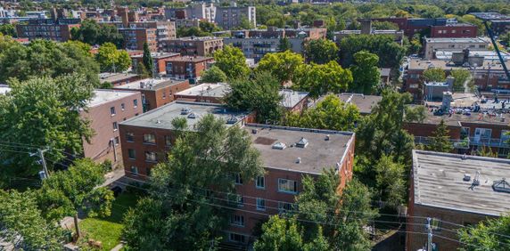
{"type": "Polygon", "coordinates": [[[214,117],[219,117],[227,121],[234,117],[236,122],[233,124],[226,124],[226,126],[232,126],[238,124],[248,112],[237,112],[226,108],[224,105],[200,103],[200,102],[188,102],[188,101],[173,101],[169,104],[161,106],[157,109],[152,109],[144,114],[132,117],[126,121],[120,123],[120,125],[126,126],[140,126],[160,129],[173,129],[172,121],[177,117],[185,117],[188,126],[193,126],[207,114],[212,114],[214,117]],[[187,110],[185,113],[183,110],[187,110]],[[194,118],[190,115],[193,113],[194,118]]]}

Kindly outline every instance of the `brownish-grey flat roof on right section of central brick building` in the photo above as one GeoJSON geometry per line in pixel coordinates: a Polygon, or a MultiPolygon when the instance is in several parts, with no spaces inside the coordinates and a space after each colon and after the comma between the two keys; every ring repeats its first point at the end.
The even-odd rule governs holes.
{"type": "Polygon", "coordinates": [[[321,174],[324,169],[341,164],[354,140],[354,133],[332,130],[258,124],[247,124],[244,129],[251,135],[264,166],[308,174],[321,174]],[[326,135],[329,135],[329,140],[326,140],[326,135]],[[302,138],[308,144],[305,148],[296,147],[295,144],[302,138]],[[284,143],[286,148],[274,149],[273,145],[278,142],[284,143]]]}

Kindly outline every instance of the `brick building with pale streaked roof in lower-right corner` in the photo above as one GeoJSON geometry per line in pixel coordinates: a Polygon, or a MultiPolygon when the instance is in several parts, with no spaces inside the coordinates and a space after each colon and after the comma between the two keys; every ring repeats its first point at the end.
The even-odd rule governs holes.
{"type": "Polygon", "coordinates": [[[509,168],[508,159],[413,150],[406,249],[424,247],[427,217],[432,250],[457,250],[459,228],[508,213],[510,185],[502,179],[508,180],[509,168]]]}

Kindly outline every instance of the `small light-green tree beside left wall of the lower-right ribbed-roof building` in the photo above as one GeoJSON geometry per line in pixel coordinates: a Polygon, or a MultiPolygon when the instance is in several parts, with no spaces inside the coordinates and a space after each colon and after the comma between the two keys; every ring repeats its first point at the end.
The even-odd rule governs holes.
{"type": "Polygon", "coordinates": [[[389,206],[402,205],[406,200],[406,181],[404,175],[405,166],[394,161],[394,157],[385,154],[377,162],[375,166],[375,181],[380,198],[388,202],[389,206]]]}

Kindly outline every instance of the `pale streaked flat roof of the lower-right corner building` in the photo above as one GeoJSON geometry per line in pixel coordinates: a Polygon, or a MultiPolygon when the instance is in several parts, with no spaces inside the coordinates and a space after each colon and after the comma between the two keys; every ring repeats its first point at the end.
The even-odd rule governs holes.
{"type": "Polygon", "coordinates": [[[510,160],[413,150],[415,204],[481,215],[510,212],[510,193],[492,189],[493,182],[510,180],[510,160]],[[479,174],[480,185],[472,187],[479,174]],[[471,181],[463,180],[465,174],[471,181]]]}

